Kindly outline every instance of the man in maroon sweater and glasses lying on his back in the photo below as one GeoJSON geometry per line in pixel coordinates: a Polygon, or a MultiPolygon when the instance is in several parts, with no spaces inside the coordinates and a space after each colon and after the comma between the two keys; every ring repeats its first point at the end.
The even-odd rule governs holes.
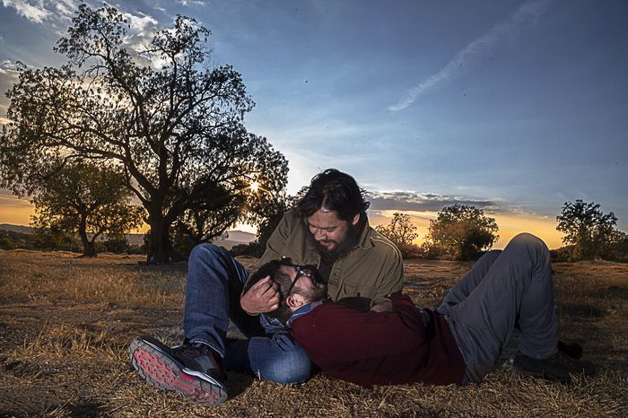
{"type": "Polygon", "coordinates": [[[328,376],[360,385],[480,382],[496,365],[515,327],[515,369],[564,382],[591,376],[577,344],[558,341],[552,269],[545,243],[520,234],[481,257],[434,311],[391,294],[391,312],[326,301],[327,285],[290,259],[260,267],[249,285],[270,276],[281,304],[270,315],[292,328],[310,360],[328,376]]]}

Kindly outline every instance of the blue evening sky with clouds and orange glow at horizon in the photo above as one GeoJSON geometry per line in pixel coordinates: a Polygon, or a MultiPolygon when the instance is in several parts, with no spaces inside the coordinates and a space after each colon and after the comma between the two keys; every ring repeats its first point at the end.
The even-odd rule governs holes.
{"type": "MultiPolygon", "coordinates": [[[[53,52],[74,0],[0,0],[0,91],[53,52]]],[[[87,4],[100,6],[101,2],[87,4]]],[[[446,205],[495,218],[502,248],[582,199],[628,231],[628,2],[183,0],[111,3],[135,36],[179,13],[212,30],[213,65],[242,74],[245,118],[289,161],[288,192],[330,167],[370,192],[371,223],[446,205]]],[[[0,123],[8,100],[0,98],[0,123]]],[[[0,190],[0,223],[31,206],[0,190]]]]}

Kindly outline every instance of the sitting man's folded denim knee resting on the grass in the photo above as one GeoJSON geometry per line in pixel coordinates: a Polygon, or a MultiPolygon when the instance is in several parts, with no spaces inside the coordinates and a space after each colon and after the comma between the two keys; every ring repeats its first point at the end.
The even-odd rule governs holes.
{"type": "Polygon", "coordinates": [[[303,383],[310,379],[311,368],[308,354],[301,346],[295,345],[294,349],[257,364],[257,370],[253,371],[259,379],[287,384],[303,383]]]}

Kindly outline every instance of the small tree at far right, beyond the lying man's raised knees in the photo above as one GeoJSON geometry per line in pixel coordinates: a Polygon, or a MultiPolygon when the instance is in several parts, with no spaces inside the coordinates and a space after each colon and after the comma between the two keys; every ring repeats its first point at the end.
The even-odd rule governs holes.
{"type": "Polygon", "coordinates": [[[602,213],[600,205],[577,199],[565,202],[561,214],[556,216],[556,230],[564,233],[563,243],[572,245],[572,261],[606,257],[623,234],[615,229],[614,213],[602,213]]]}

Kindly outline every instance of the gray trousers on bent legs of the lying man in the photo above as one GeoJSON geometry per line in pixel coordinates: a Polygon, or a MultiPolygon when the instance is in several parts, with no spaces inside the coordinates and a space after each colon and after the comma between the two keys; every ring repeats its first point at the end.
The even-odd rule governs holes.
{"type": "Polygon", "coordinates": [[[522,233],[503,250],[487,252],[438,311],[447,316],[473,382],[493,370],[515,326],[521,331],[521,353],[549,357],[558,344],[558,315],[547,246],[522,233]]]}

